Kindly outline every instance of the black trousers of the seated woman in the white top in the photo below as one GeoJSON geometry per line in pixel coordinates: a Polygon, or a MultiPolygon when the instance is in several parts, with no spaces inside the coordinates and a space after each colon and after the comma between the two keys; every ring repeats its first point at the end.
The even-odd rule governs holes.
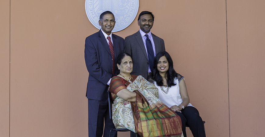
{"type": "Polygon", "coordinates": [[[189,126],[194,137],[205,137],[203,120],[200,117],[199,111],[195,107],[188,106],[182,109],[181,112],[175,111],[175,113],[181,118],[182,133],[184,137],[187,137],[186,125],[189,126]]]}

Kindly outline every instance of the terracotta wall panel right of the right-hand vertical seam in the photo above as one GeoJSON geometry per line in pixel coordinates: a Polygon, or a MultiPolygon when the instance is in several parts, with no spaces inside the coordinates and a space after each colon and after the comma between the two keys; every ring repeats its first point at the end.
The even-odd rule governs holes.
{"type": "Polygon", "coordinates": [[[231,136],[265,133],[264,1],[227,1],[231,136]]]}

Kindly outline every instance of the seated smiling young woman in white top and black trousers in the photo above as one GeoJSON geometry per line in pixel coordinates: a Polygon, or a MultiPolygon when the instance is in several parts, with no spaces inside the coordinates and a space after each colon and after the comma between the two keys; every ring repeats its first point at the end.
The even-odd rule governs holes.
{"type": "Polygon", "coordinates": [[[189,103],[184,77],[175,72],[168,52],[162,51],[155,56],[152,78],[158,88],[158,98],[180,116],[183,135],[187,136],[188,125],[194,137],[205,137],[202,118],[189,103]]]}

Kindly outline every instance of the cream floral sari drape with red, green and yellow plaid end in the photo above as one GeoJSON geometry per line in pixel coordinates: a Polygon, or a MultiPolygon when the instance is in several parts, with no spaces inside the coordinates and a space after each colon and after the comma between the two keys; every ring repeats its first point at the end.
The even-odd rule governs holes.
{"type": "Polygon", "coordinates": [[[128,128],[141,137],[181,137],[180,117],[157,98],[154,84],[138,76],[126,85],[129,91],[137,93],[136,102],[124,105],[124,100],[115,98],[112,111],[116,128],[128,128]]]}

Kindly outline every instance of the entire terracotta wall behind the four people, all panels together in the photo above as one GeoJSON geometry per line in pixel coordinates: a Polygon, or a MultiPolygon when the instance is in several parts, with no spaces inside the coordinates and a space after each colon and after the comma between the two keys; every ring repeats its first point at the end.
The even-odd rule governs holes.
{"type": "MultiPolygon", "coordinates": [[[[0,136],[88,136],[84,42],[98,30],[84,5],[0,2],[0,136]]],[[[151,31],[185,76],[208,137],[263,137],[263,7],[261,0],[140,0],[138,15],[154,13],[151,31]]],[[[138,31],[136,19],[115,34],[138,31]]]]}

